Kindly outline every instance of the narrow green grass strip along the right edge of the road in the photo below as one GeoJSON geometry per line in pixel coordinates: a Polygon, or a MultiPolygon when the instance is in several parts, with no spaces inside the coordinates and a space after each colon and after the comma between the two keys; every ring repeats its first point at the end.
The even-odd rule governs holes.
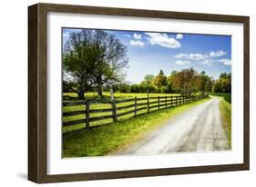
{"type": "Polygon", "coordinates": [[[220,100],[220,116],[223,125],[223,129],[229,141],[229,146],[231,148],[231,104],[220,100]]]}

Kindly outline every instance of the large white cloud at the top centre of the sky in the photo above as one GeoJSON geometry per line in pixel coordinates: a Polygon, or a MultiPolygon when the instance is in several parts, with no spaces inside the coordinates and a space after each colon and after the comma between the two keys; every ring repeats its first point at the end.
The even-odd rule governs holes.
{"type": "Polygon", "coordinates": [[[147,34],[148,41],[150,44],[159,44],[163,47],[168,48],[179,48],[181,44],[177,40],[175,40],[173,37],[169,37],[168,34],[159,34],[159,33],[145,33],[147,34]]]}

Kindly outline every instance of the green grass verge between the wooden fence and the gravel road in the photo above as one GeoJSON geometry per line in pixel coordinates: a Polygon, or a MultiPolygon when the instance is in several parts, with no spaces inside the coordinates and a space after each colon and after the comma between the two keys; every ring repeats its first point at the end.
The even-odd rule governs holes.
{"type": "Polygon", "coordinates": [[[118,148],[138,141],[175,115],[208,100],[162,109],[90,130],[82,129],[63,133],[63,157],[107,155],[118,148]]]}

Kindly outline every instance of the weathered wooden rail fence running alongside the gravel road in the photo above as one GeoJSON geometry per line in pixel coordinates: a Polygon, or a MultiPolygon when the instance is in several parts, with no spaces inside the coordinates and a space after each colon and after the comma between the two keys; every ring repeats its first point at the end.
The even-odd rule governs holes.
{"type": "Polygon", "coordinates": [[[105,119],[112,119],[113,123],[118,121],[118,117],[128,115],[133,113],[134,116],[138,116],[145,113],[150,113],[153,111],[157,111],[164,108],[174,107],[183,103],[191,103],[195,101],[199,101],[208,97],[208,95],[197,95],[197,96],[159,96],[159,97],[144,97],[144,98],[130,98],[130,99],[123,99],[123,100],[113,100],[108,102],[101,102],[101,103],[108,103],[111,105],[109,108],[104,109],[91,109],[92,104],[98,104],[94,101],[77,101],[77,102],[65,102],[63,103],[64,107],[67,106],[75,106],[75,105],[82,105],[84,106],[84,110],[72,111],[72,112],[64,112],[63,117],[73,116],[78,114],[84,114],[85,118],[63,122],[63,126],[70,126],[79,123],[85,123],[85,127],[89,128],[91,122],[96,122],[99,120],[105,119]],[[153,101],[152,101],[153,100],[153,101]],[[143,103],[140,103],[144,101],[143,103]],[[128,103],[127,105],[117,106],[118,103],[128,103]],[[118,113],[118,111],[128,110],[125,112],[118,113]],[[154,110],[153,110],[154,109],[154,110]],[[94,116],[91,117],[90,113],[112,113],[103,116],[94,116]]]}

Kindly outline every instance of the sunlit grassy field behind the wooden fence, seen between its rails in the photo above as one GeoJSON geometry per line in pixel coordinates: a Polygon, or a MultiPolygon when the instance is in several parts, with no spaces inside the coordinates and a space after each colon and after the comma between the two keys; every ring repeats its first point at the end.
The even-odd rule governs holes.
{"type": "MultiPolygon", "coordinates": [[[[74,93],[68,93],[68,94],[64,94],[64,95],[68,95],[71,97],[77,97],[77,94],[74,93]]],[[[104,93],[105,97],[109,97],[109,93],[104,93]]],[[[170,96],[170,95],[179,95],[179,94],[149,94],[149,97],[156,97],[156,96],[170,96]]],[[[137,96],[138,98],[141,97],[147,97],[147,94],[123,94],[123,93],[116,93],[114,94],[115,96],[115,100],[121,100],[121,99],[126,99],[126,98],[134,98],[135,96],[137,96]]],[[[97,94],[95,93],[87,93],[86,97],[89,99],[94,100],[94,98],[97,97],[97,94]]],[[[108,98],[107,98],[108,99],[108,98]]],[[[161,99],[161,101],[164,99],[161,99]]],[[[158,99],[150,99],[150,102],[155,102],[158,101],[158,99]]],[[[147,101],[138,101],[138,103],[146,103],[147,101]]],[[[127,103],[117,103],[117,107],[119,106],[126,106],[129,104],[133,104],[134,102],[127,102],[127,103]]],[[[157,103],[152,103],[150,104],[150,106],[156,105],[157,103]]],[[[141,106],[143,107],[143,106],[141,106]]],[[[111,104],[110,103],[94,103],[90,105],[90,109],[107,109],[107,108],[111,108],[111,104]]],[[[139,109],[140,107],[138,107],[139,109]]],[[[164,106],[162,106],[161,108],[164,108],[164,106]]],[[[72,111],[79,111],[79,110],[84,110],[85,106],[84,105],[77,105],[77,106],[65,106],[63,107],[63,112],[72,112],[72,111]]],[[[129,110],[131,110],[132,108],[128,108],[128,109],[123,109],[123,110],[118,110],[118,113],[125,113],[128,112],[129,110]]],[[[153,108],[150,109],[150,111],[155,111],[158,108],[153,108]]],[[[140,110],[138,111],[138,114],[140,113],[146,113],[146,110],[140,110]]],[[[111,115],[111,112],[105,112],[105,113],[90,113],[90,117],[97,117],[97,116],[105,116],[105,115],[111,115]]],[[[130,113],[128,115],[124,115],[121,117],[118,117],[118,121],[120,120],[126,120],[130,117],[132,117],[134,115],[134,113],[130,113]]],[[[84,119],[85,118],[85,114],[78,114],[78,115],[73,115],[73,116],[65,116],[63,117],[63,122],[70,122],[70,121],[75,121],[75,120],[79,120],[79,119],[84,119]]],[[[96,122],[92,122],[90,123],[90,126],[97,126],[97,125],[102,125],[105,123],[112,123],[112,119],[105,119],[105,120],[100,120],[100,121],[96,121],[96,122]]],[[[63,132],[67,133],[67,132],[71,132],[71,131],[76,131],[78,129],[83,129],[85,127],[85,123],[80,123],[80,124],[76,124],[76,125],[72,125],[72,126],[67,126],[63,128],[63,132]]]]}

